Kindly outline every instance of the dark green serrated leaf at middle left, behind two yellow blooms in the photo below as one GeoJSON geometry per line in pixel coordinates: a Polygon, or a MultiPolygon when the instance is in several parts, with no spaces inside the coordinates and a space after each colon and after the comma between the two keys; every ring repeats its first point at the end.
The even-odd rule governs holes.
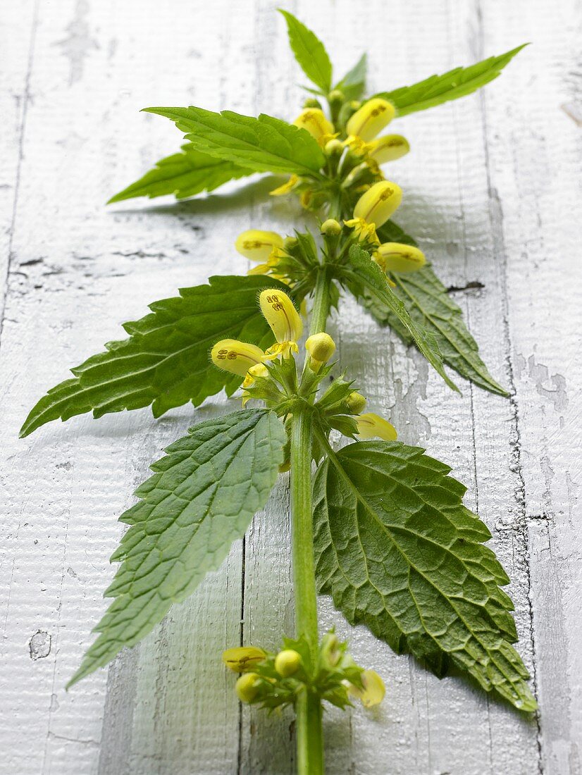
{"type": "Polygon", "coordinates": [[[242,378],[212,366],[208,353],[219,339],[243,339],[268,347],[274,336],[257,294],[288,286],[265,277],[211,277],[208,285],[182,288],[180,296],[154,301],[152,313],[123,328],[129,339],[110,342],[68,379],[40,399],[21,436],[60,418],[93,410],[94,417],[152,405],[155,417],[191,401],[195,406],[219,393],[232,394],[242,378]]]}

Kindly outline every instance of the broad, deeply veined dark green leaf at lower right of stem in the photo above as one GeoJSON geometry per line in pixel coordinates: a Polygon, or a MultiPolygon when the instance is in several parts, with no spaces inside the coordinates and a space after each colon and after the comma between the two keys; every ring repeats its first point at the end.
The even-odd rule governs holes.
{"type": "Polygon", "coordinates": [[[449,663],[516,708],[536,701],[518,653],[509,583],[465,487],[424,450],[358,442],[329,453],[314,483],[319,591],[353,624],[443,675],[449,663]]]}

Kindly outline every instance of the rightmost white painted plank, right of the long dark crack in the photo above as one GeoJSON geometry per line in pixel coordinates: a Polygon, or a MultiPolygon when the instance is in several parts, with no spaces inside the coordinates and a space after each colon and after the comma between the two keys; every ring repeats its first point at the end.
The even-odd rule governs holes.
{"type": "Polygon", "coordinates": [[[505,253],[544,773],[580,772],[580,6],[518,2],[487,36],[522,36],[511,91],[487,106],[491,197],[505,253]],[[503,22],[501,24],[501,21],[503,22]],[[556,45],[556,42],[560,43],[556,45]],[[531,105],[539,104],[539,111],[531,105]],[[502,140],[489,122],[505,122],[502,140]]]}

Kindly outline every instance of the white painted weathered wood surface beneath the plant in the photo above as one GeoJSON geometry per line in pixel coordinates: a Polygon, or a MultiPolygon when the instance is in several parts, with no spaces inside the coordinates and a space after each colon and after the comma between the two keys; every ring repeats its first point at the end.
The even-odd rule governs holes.
{"type": "MultiPolygon", "coordinates": [[[[119,323],[208,274],[243,271],[249,226],[290,229],[267,188],[202,201],[112,192],[177,148],[146,105],[291,118],[301,81],[271,0],[6,0],[2,16],[3,299],[0,773],[292,773],[291,717],[240,710],[220,652],[290,632],[284,478],[244,546],[140,646],[69,692],[112,577],[116,517],[151,460],[220,401],[53,423],[19,441],[33,402],[119,323]],[[242,615],[242,621],[241,621],[242,615]]],[[[376,713],[326,715],[329,773],[580,775],[580,4],[576,0],[284,3],[342,71],[362,50],[370,88],[413,82],[524,40],[479,95],[413,115],[394,165],[398,221],[456,288],[484,359],[512,397],[447,390],[351,302],[333,323],[343,363],[401,439],[453,466],[512,579],[520,649],[540,701],[524,718],[459,677],[439,681],[351,629],[387,684],[376,713]]]]}

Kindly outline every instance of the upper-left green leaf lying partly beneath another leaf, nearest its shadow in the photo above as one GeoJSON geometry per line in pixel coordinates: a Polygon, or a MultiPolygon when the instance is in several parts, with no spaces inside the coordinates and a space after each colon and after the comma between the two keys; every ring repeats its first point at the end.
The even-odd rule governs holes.
{"type": "Polygon", "coordinates": [[[214,191],[223,183],[251,174],[252,170],[237,167],[232,161],[208,156],[208,153],[201,153],[188,143],[182,146],[181,153],[173,153],[160,159],[153,170],[112,196],[107,204],[138,196],[153,199],[166,194],[174,194],[177,199],[184,199],[202,191],[214,191]]]}

